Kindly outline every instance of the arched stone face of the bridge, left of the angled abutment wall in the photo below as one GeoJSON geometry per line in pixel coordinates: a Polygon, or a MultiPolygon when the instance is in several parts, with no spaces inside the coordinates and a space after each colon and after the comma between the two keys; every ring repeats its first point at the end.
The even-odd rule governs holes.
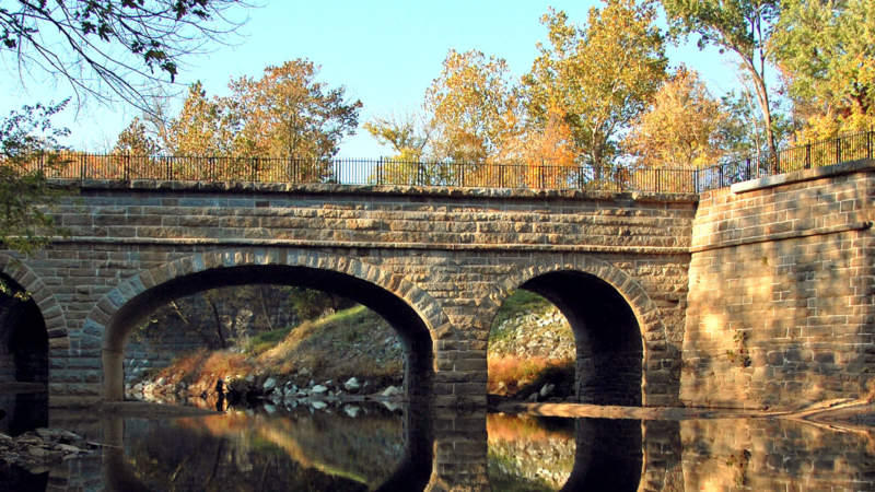
{"type": "Polygon", "coordinates": [[[48,313],[52,405],[100,398],[112,313],[143,279],[192,271],[192,255],[361,274],[422,304],[441,405],[485,402],[489,325],[511,290],[586,271],[639,317],[644,403],[676,405],[695,207],[695,196],[90,183],[56,211],[69,238],[0,266],[48,313]]]}

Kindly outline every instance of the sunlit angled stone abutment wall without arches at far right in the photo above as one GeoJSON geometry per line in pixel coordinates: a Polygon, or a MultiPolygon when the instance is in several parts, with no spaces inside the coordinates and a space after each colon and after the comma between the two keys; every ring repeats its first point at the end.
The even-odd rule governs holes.
{"type": "Polygon", "coordinates": [[[680,399],[796,408],[868,391],[875,169],[809,169],[703,194],[680,399]]]}

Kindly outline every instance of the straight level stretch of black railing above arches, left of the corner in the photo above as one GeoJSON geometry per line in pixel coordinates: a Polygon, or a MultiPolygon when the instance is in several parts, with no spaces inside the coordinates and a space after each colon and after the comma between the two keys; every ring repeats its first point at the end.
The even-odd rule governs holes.
{"type": "Polygon", "coordinates": [[[42,166],[47,177],[67,179],[161,179],[480,188],[641,190],[695,192],[692,169],[562,166],[549,162],[418,162],[396,159],[289,159],[229,156],[58,155],[60,166],[42,166]]]}

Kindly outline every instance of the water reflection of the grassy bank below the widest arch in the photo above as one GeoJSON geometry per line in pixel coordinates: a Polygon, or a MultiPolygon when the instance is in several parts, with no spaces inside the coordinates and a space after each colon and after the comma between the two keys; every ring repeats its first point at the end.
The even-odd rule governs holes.
{"type": "Polygon", "coordinates": [[[149,490],[373,490],[402,461],[405,435],[400,415],[366,411],[131,419],[124,455],[149,490]]]}

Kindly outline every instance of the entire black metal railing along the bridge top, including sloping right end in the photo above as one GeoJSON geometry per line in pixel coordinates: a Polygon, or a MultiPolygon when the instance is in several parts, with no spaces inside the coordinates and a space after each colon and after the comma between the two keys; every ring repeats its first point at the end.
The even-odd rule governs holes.
{"type": "Polygon", "coordinates": [[[160,179],[346,185],[401,185],[549,190],[685,192],[861,159],[873,159],[875,131],[793,147],[773,159],[763,154],[713,166],[655,168],[538,163],[418,162],[397,159],[290,159],[154,156],[63,152],[62,165],[35,161],[27,167],[49,178],[160,179]]]}

